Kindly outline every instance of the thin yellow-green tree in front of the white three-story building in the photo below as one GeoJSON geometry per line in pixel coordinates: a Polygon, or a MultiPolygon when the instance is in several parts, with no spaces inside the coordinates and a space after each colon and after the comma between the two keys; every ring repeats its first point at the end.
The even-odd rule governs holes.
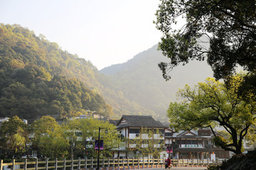
{"type": "Polygon", "coordinates": [[[139,152],[142,157],[159,158],[160,152],[164,151],[164,134],[157,129],[141,128],[136,139],[129,140],[130,148],[139,152]]]}

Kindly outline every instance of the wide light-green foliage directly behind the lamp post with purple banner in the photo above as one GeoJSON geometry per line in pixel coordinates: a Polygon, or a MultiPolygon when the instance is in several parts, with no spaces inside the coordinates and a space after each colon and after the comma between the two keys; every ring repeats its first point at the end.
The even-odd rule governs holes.
{"type": "Polygon", "coordinates": [[[97,157],[95,151],[95,140],[99,137],[104,141],[104,149],[100,151],[103,157],[112,157],[112,149],[121,145],[121,138],[117,134],[116,127],[108,122],[97,119],[68,120],[63,123],[62,128],[69,140],[70,156],[86,154],[86,157],[97,157]]]}

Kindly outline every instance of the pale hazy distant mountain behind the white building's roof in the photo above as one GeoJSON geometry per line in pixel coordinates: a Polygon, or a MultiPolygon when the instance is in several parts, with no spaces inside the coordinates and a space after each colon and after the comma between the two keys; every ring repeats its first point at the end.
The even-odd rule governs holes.
{"type": "Polygon", "coordinates": [[[171,79],[165,81],[157,65],[163,61],[168,60],[154,45],[123,64],[114,64],[100,70],[101,74],[112,81],[102,84],[115,91],[122,91],[129,100],[154,111],[159,115],[159,120],[166,120],[166,110],[170,102],[177,101],[178,89],[182,89],[185,84],[193,86],[207,77],[213,77],[213,72],[206,62],[193,61],[175,67],[170,72],[171,79]]]}

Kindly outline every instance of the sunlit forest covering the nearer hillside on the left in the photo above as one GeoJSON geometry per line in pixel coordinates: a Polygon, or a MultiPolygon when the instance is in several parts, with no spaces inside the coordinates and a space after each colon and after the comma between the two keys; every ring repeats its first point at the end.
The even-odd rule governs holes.
{"type": "Polygon", "coordinates": [[[90,61],[61,50],[28,28],[1,24],[0,56],[0,117],[65,118],[87,111],[111,118],[154,115],[121,91],[102,86],[99,80],[110,82],[90,61]]]}

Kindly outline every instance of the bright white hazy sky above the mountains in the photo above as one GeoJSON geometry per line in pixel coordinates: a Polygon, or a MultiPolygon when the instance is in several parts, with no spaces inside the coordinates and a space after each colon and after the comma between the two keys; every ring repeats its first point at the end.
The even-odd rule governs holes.
{"type": "Polygon", "coordinates": [[[156,45],[159,0],[0,0],[0,23],[43,34],[97,69],[156,45]]]}

